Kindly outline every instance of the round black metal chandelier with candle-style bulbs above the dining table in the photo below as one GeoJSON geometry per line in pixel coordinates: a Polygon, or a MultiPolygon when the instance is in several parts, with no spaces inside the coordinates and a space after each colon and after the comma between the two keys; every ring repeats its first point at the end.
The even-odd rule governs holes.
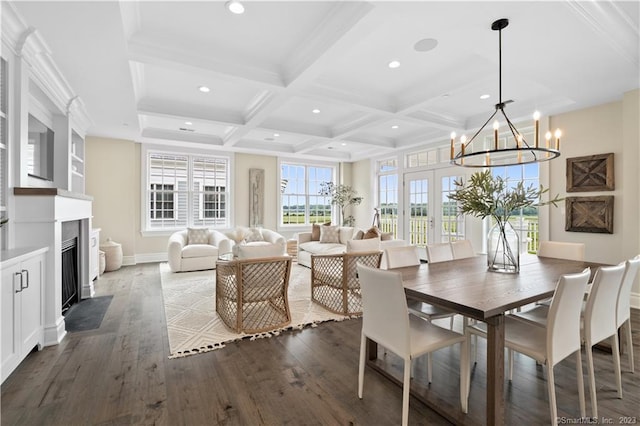
{"type": "Polygon", "coordinates": [[[506,18],[498,19],[491,24],[491,29],[498,31],[498,46],[499,46],[499,62],[498,62],[498,94],[499,100],[495,105],[496,110],[491,114],[489,119],[480,127],[480,129],[471,137],[467,139],[465,135],[460,137],[460,150],[456,148],[456,134],[451,133],[451,163],[458,166],[465,167],[494,167],[494,166],[509,166],[515,164],[527,164],[541,161],[551,160],[560,155],[560,136],[562,132],[560,129],[555,132],[555,141],[551,140],[551,132],[547,132],[544,146],[540,144],[540,113],[536,111],[533,114],[534,120],[534,142],[529,144],[524,136],[516,129],[511,123],[509,117],[504,112],[504,108],[507,104],[513,102],[511,100],[502,101],[502,30],[509,25],[509,20],[506,18]],[[493,122],[493,143],[476,142],[474,141],[484,128],[494,119],[498,111],[502,113],[509,131],[513,135],[513,140],[510,142],[507,136],[504,146],[500,146],[500,140],[498,138],[498,132],[500,130],[500,122],[495,120],[493,122]],[[552,146],[553,144],[553,146],[552,146]],[[480,146],[477,146],[480,145],[480,146]],[[457,152],[456,152],[457,151],[457,152]]]}

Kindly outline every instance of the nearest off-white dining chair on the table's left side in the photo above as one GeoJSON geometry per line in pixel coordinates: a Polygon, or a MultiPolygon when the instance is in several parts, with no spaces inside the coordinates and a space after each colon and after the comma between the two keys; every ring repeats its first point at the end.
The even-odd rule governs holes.
{"type": "Polygon", "coordinates": [[[407,310],[402,275],[395,271],[358,265],[362,288],[362,332],[358,368],[358,398],[362,399],[367,338],[402,357],[402,424],[409,418],[409,389],[413,359],[438,349],[460,344],[460,406],[467,412],[469,362],[464,335],[423,321],[407,310]]]}

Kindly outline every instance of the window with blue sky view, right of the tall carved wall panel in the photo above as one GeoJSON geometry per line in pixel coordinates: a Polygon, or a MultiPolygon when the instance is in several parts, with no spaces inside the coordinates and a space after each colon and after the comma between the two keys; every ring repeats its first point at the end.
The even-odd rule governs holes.
{"type": "Polygon", "coordinates": [[[280,225],[331,221],[331,198],[320,195],[322,182],[335,182],[335,167],[280,163],[280,225]]]}

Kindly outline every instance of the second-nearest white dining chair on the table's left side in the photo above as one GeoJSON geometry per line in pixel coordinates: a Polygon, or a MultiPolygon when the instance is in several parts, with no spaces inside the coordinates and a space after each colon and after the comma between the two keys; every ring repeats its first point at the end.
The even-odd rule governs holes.
{"type": "MultiPolygon", "coordinates": [[[[387,257],[387,269],[420,265],[418,246],[387,248],[385,249],[385,255],[387,257]]],[[[453,330],[453,317],[456,315],[455,312],[410,297],[407,297],[407,307],[409,308],[410,314],[416,315],[428,322],[434,319],[450,318],[449,329],[453,330]]],[[[431,383],[432,380],[432,371],[431,354],[429,353],[427,354],[427,378],[429,383],[431,383]]]]}

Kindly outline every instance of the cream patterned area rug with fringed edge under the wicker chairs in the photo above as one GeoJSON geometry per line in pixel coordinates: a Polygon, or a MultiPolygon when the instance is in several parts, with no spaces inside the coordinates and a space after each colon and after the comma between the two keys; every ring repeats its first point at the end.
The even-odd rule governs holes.
{"type": "Polygon", "coordinates": [[[289,278],[291,324],[259,334],[235,333],[218,317],[214,270],[174,273],[167,263],[161,263],[160,277],[169,334],[169,358],[212,351],[236,340],[272,337],[285,330],[349,319],[311,302],[311,270],[296,264],[292,265],[289,278]]]}

